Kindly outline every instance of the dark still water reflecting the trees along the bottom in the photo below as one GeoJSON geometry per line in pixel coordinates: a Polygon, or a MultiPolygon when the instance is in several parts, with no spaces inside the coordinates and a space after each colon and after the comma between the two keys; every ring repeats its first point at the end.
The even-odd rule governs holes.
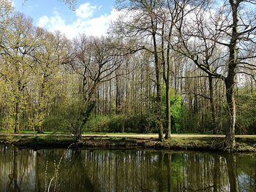
{"type": "Polygon", "coordinates": [[[255,179],[255,154],[0,146],[0,191],[255,191],[255,179]]]}

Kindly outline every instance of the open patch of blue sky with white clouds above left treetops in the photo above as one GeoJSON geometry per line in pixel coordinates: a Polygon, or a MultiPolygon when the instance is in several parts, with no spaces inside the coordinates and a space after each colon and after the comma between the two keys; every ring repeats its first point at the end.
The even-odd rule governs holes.
{"type": "Polygon", "coordinates": [[[59,30],[69,39],[78,34],[105,35],[111,20],[118,17],[115,0],[78,0],[75,10],[59,0],[12,0],[16,11],[33,19],[35,26],[59,30]]]}

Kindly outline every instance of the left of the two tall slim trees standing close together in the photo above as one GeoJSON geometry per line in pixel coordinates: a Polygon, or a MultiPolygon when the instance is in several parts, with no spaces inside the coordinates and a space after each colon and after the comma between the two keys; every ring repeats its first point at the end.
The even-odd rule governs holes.
{"type": "Polygon", "coordinates": [[[162,104],[161,104],[161,61],[159,57],[159,45],[157,41],[159,15],[162,7],[161,1],[130,0],[118,1],[118,8],[128,10],[132,15],[131,20],[121,20],[116,23],[117,33],[120,36],[132,39],[140,38],[138,45],[148,50],[154,57],[154,69],[156,77],[157,96],[155,99],[157,129],[159,141],[163,140],[162,131],[162,104]]]}

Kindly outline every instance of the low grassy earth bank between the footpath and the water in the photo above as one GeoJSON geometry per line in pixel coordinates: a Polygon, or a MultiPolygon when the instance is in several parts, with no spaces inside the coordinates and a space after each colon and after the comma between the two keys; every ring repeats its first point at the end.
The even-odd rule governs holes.
{"type": "MultiPolygon", "coordinates": [[[[150,148],[165,150],[203,150],[225,151],[224,137],[208,135],[180,135],[164,142],[157,141],[152,135],[98,134],[84,135],[80,142],[75,142],[69,135],[37,134],[1,134],[0,144],[21,148],[150,148]]],[[[236,137],[234,152],[256,152],[256,137],[236,137]]]]}

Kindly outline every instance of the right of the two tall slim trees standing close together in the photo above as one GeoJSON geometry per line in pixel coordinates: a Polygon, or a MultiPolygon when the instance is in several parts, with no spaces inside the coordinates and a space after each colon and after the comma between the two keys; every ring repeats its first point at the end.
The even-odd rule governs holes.
{"type": "MultiPolygon", "coordinates": [[[[165,82],[165,139],[170,137],[171,132],[171,118],[170,118],[170,69],[171,63],[174,65],[174,60],[177,55],[172,50],[171,42],[174,39],[174,30],[176,23],[184,17],[182,10],[187,9],[189,1],[162,1],[160,8],[161,14],[159,14],[159,37],[161,42],[161,48],[159,52],[162,57],[162,75],[165,82]]],[[[191,10],[188,9],[188,14],[191,10]]],[[[156,16],[157,17],[157,16],[156,16]]]]}

